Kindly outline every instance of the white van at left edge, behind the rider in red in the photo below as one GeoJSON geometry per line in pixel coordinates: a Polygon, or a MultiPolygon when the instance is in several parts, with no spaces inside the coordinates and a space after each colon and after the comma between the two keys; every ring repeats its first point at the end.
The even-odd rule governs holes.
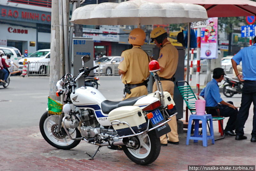
{"type": "MultiPolygon", "coordinates": [[[[18,66],[18,61],[22,58],[21,57],[21,53],[20,50],[14,47],[0,47],[0,50],[3,50],[4,52],[4,56],[3,58],[5,59],[5,62],[8,64],[7,62],[7,55],[11,55],[11,60],[13,61],[14,64],[16,64],[18,66]]],[[[13,70],[17,71],[18,67],[14,65],[13,70]]]]}

